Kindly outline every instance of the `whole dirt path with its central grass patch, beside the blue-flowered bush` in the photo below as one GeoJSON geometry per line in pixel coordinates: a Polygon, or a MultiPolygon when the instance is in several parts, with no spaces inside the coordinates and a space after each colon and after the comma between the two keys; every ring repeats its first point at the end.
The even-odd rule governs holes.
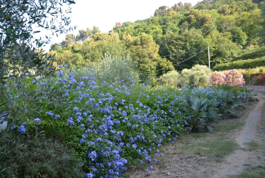
{"type": "Polygon", "coordinates": [[[194,133],[181,138],[163,148],[164,159],[154,164],[150,172],[145,171],[150,165],[145,165],[129,169],[127,175],[134,178],[229,177],[239,175],[251,166],[264,166],[264,91],[254,98],[257,101],[240,110],[238,119],[220,121],[214,134],[194,133]],[[218,142],[223,139],[230,141],[224,142],[227,155],[218,152],[218,142]]]}

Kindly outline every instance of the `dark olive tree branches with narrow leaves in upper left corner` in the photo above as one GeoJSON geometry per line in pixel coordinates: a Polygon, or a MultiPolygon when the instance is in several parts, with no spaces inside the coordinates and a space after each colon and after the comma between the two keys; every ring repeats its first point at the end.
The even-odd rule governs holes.
{"type": "MultiPolygon", "coordinates": [[[[75,3],[69,0],[35,1],[14,0],[0,2],[0,84],[6,83],[8,77],[21,78],[22,75],[35,73],[35,76],[52,76],[55,68],[52,59],[37,51],[44,43],[32,38],[32,26],[43,27],[52,32],[66,32],[70,20],[65,14],[70,9],[58,8],[60,3],[75,3]],[[65,13],[65,14],[64,14],[65,13]],[[52,15],[49,20],[47,17],[52,15]],[[55,25],[55,19],[60,23],[55,25]],[[65,27],[64,27],[65,26],[65,27]],[[32,42],[33,41],[33,42],[32,42]]],[[[72,29],[71,27],[69,29],[72,29]]],[[[49,41],[49,40],[48,40],[49,41]]]]}

